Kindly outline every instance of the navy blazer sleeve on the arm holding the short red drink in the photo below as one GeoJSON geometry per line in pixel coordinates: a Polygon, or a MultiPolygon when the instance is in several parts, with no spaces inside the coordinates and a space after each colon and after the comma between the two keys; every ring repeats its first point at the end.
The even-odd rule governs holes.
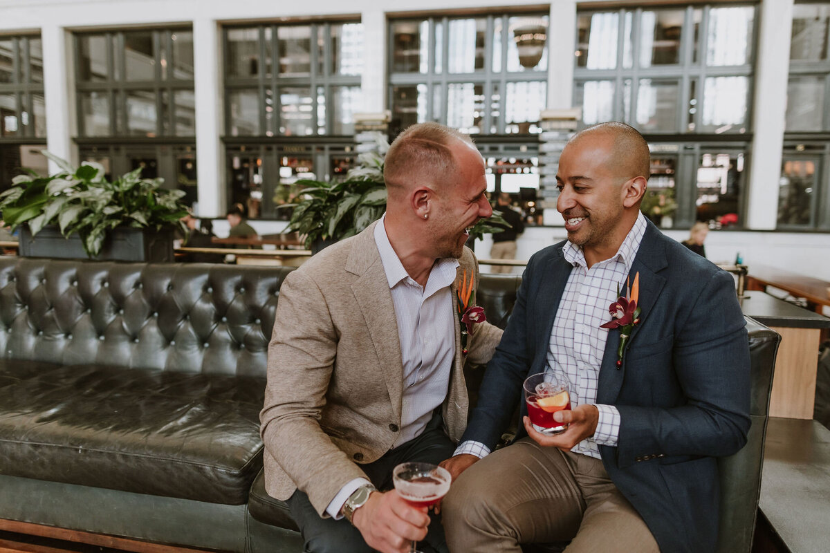
{"type": "Polygon", "coordinates": [[[725,456],[746,443],[749,342],[730,274],[716,272],[692,299],[688,318],[676,324],[671,355],[686,404],[617,405],[620,467],[642,455],[725,456]]]}

